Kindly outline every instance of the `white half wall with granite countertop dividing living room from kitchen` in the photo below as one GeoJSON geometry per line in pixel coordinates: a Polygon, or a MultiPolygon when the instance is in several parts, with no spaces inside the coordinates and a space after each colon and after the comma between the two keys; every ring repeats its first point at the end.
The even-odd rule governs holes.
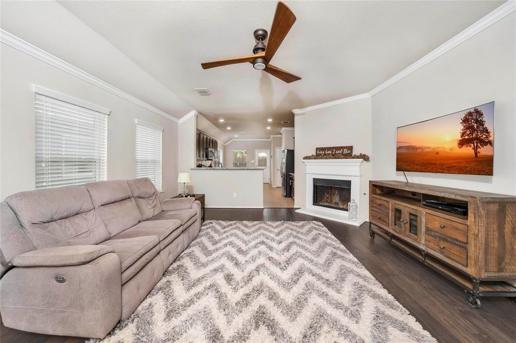
{"type": "Polygon", "coordinates": [[[263,169],[191,168],[191,187],[206,208],[263,208],[263,169]]]}

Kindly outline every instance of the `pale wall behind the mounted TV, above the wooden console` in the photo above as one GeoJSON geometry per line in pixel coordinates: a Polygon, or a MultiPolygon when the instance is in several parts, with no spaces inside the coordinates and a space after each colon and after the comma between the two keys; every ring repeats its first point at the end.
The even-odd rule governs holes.
{"type": "Polygon", "coordinates": [[[404,180],[396,173],[397,126],[494,100],[494,176],[407,176],[417,183],[516,194],[515,28],[513,12],[373,96],[374,179],[404,180]]]}

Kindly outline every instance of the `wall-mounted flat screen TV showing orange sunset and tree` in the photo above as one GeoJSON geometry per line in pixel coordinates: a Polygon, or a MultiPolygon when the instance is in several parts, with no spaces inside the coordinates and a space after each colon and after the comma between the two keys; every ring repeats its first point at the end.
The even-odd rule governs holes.
{"type": "Polygon", "coordinates": [[[493,175],[494,101],[397,129],[396,170],[493,175]]]}

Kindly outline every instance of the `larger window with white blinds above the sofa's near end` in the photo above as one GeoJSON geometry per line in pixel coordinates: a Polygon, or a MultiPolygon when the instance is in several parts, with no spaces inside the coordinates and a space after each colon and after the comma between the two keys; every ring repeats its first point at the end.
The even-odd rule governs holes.
{"type": "Polygon", "coordinates": [[[106,179],[107,115],[36,96],[36,188],[106,179]]]}

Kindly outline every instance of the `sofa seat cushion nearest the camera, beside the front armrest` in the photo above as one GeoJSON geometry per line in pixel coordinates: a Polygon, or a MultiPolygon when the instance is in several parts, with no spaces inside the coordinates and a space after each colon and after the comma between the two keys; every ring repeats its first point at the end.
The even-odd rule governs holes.
{"type": "MultiPolygon", "coordinates": [[[[122,272],[131,267],[144,254],[159,244],[157,236],[139,236],[134,238],[109,239],[102,245],[111,247],[120,259],[122,272]]],[[[158,247],[159,252],[159,247],[158,247]]],[[[157,252],[156,252],[157,254],[157,252]]]]}

